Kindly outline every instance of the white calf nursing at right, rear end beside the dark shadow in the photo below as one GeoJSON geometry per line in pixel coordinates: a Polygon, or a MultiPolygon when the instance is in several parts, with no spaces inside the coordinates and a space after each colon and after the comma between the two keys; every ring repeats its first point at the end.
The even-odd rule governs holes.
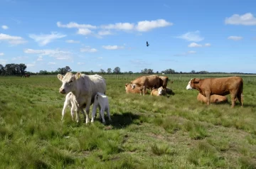
{"type": "Polygon", "coordinates": [[[100,107],[100,116],[102,118],[102,123],[105,124],[105,118],[104,118],[105,111],[107,112],[107,116],[108,116],[109,120],[111,121],[110,104],[109,104],[108,98],[105,94],[102,94],[100,92],[97,92],[97,94],[95,95],[95,99],[94,99],[93,107],[92,107],[92,121],[91,122],[94,122],[97,107],[100,107]]]}

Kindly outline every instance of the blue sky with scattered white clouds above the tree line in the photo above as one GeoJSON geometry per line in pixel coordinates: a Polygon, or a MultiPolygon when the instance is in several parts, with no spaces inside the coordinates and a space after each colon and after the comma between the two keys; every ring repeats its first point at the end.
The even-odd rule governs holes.
{"type": "Polygon", "coordinates": [[[0,0],[0,64],[256,73],[256,1],[0,0]],[[146,41],[149,47],[146,47],[146,41]]]}

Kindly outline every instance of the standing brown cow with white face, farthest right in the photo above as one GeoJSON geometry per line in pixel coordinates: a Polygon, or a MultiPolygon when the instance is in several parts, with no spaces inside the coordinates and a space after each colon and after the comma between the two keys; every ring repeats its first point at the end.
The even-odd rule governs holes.
{"type": "Polygon", "coordinates": [[[241,77],[221,77],[221,78],[207,78],[200,80],[198,78],[191,79],[188,82],[186,89],[197,89],[203,96],[207,97],[207,104],[210,104],[210,95],[218,94],[225,96],[231,95],[231,107],[235,106],[235,98],[242,106],[243,95],[242,95],[243,81],[241,77]]]}

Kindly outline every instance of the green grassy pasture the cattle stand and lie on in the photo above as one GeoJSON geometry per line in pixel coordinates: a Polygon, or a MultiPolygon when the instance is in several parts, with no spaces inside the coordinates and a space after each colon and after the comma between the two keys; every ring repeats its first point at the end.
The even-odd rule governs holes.
{"type": "Polygon", "coordinates": [[[0,77],[1,168],[256,168],[256,77],[242,77],[244,107],[233,109],[198,102],[192,76],[171,76],[167,97],[125,94],[128,75],[105,78],[112,122],[86,125],[70,109],[60,121],[57,75],[0,77]]]}

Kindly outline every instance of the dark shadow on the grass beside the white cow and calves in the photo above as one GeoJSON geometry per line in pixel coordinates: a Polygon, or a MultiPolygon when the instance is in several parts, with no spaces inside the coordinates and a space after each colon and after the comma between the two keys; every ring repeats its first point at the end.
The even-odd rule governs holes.
{"type": "Polygon", "coordinates": [[[106,125],[113,126],[114,129],[122,129],[133,123],[134,120],[139,119],[138,114],[125,112],[123,114],[111,114],[112,121],[109,121],[105,115],[106,125]]]}

